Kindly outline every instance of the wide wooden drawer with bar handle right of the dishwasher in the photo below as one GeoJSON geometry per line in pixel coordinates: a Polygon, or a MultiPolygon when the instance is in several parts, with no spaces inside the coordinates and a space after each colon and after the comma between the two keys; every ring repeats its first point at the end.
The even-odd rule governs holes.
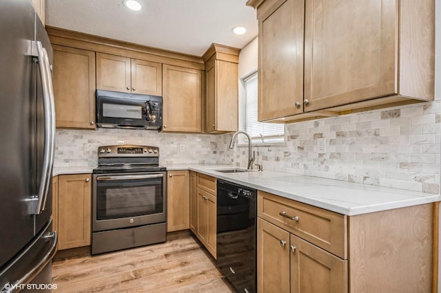
{"type": "Polygon", "coordinates": [[[258,191],[258,216],[347,259],[347,217],[329,210],[258,191]],[[285,212],[285,216],[280,215],[285,212]],[[291,217],[298,217],[291,219],[291,217]]]}

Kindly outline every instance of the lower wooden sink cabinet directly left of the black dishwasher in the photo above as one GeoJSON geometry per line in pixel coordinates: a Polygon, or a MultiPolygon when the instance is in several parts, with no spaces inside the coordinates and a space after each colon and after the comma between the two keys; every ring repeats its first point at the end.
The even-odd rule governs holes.
{"type": "Polygon", "coordinates": [[[216,178],[191,173],[190,229],[216,259],[216,178]]]}

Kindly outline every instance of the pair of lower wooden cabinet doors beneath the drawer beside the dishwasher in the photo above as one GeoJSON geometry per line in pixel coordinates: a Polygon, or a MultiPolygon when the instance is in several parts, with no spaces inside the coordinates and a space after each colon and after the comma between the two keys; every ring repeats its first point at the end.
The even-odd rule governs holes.
{"type": "Polygon", "coordinates": [[[347,261],[263,219],[257,223],[260,292],[347,292],[347,261]]]}

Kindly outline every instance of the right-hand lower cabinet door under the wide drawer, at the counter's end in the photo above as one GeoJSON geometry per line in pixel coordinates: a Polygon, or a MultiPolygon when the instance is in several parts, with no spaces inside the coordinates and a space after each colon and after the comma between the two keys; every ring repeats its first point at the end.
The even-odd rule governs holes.
{"type": "Polygon", "coordinates": [[[292,293],[347,292],[347,261],[292,234],[289,248],[292,293]]]}

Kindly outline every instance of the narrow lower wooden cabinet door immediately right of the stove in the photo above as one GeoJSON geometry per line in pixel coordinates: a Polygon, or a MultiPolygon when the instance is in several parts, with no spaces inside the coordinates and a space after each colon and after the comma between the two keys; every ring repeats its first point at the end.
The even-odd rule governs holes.
{"type": "Polygon", "coordinates": [[[189,171],[168,171],[167,232],[189,228],[189,171]]]}

